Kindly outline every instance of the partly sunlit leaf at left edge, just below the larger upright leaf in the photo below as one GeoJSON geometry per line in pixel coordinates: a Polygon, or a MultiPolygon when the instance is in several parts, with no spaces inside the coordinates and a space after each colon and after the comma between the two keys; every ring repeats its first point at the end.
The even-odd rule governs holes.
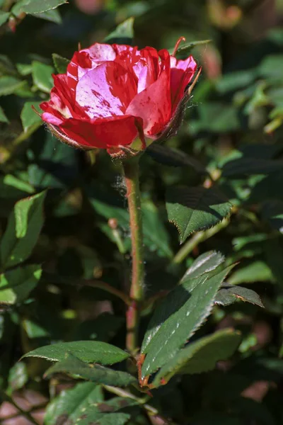
{"type": "Polygon", "coordinates": [[[0,305],[23,302],[40,280],[40,266],[30,265],[14,268],[0,274],[0,305]]]}

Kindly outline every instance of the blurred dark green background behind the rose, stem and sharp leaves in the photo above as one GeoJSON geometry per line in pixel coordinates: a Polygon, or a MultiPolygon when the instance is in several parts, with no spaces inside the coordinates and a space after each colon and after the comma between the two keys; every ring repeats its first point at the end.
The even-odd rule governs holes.
{"type": "MultiPolygon", "coordinates": [[[[172,380],[158,390],[156,405],[180,424],[282,425],[283,0],[69,0],[34,15],[23,13],[22,5],[0,0],[1,233],[16,200],[50,190],[31,257],[43,264],[42,282],[27,301],[0,314],[1,387],[23,410],[35,410],[42,424],[49,391],[57,394],[60,387],[42,381],[46,365],[40,361],[18,363],[23,353],[74,339],[124,346],[119,301],[69,284],[69,278],[95,278],[127,288],[129,230],[117,166],[105,152],[84,154],[59,144],[31,110],[49,98],[52,54],[70,60],[78,43],[103,40],[170,50],[184,36],[192,45],[179,57],[191,52],[202,74],[180,132],[166,146],[187,159],[175,168],[166,152],[151,152],[141,170],[147,294],[171,288],[195,256],[217,249],[227,263],[239,261],[229,283],[250,285],[265,310],[248,303],[217,306],[202,334],[241,329],[236,362],[223,362],[205,377],[172,380]],[[175,183],[205,185],[202,167],[233,203],[231,219],[176,257],[180,245],[166,221],[164,191],[175,183]],[[108,225],[112,217],[119,220],[120,239],[108,225]]],[[[32,423],[8,402],[0,418],[4,425],[32,423]]],[[[148,424],[142,417],[130,423],[148,424]]]]}

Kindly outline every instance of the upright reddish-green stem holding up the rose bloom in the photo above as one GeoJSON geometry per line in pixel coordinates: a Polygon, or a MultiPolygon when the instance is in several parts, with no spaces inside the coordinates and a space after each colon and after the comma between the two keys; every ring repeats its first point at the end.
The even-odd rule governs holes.
{"type": "Polygon", "coordinates": [[[140,306],[144,299],[144,249],[139,191],[139,157],[127,159],[123,162],[123,167],[132,239],[132,283],[129,291],[132,303],[127,309],[126,346],[130,353],[135,354],[138,348],[140,306]]]}

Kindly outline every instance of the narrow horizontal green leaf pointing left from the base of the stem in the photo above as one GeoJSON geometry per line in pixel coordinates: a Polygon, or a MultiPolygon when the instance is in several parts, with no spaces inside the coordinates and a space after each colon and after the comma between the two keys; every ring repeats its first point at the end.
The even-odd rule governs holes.
{"type": "Polygon", "coordinates": [[[48,361],[64,361],[67,353],[71,353],[81,361],[101,363],[103,365],[112,365],[129,357],[129,354],[121,350],[121,348],[100,341],[60,342],[36,348],[26,353],[23,357],[40,357],[48,361]]]}

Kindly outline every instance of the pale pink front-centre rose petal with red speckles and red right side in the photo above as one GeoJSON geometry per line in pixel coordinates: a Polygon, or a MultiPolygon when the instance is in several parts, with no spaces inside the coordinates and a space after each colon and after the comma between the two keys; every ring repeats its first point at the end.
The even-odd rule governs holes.
{"type": "Polygon", "coordinates": [[[76,101],[90,118],[105,118],[123,115],[136,93],[134,76],[116,62],[105,62],[80,79],[76,101]]]}

